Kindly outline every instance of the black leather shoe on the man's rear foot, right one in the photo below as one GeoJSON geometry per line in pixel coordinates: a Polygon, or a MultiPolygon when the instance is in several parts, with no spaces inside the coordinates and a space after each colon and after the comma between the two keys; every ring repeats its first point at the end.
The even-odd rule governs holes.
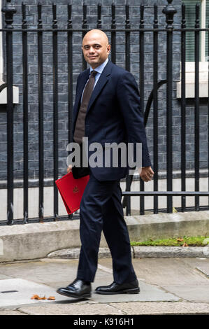
{"type": "Polygon", "coordinates": [[[102,295],[113,295],[116,293],[139,293],[138,280],[131,281],[129,283],[118,284],[115,281],[109,286],[97,287],[95,292],[102,295]]]}

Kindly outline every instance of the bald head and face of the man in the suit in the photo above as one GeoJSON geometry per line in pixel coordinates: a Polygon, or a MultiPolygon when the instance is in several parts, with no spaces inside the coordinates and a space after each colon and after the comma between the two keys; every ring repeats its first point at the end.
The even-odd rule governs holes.
{"type": "Polygon", "coordinates": [[[110,53],[108,40],[100,34],[86,34],[82,41],[82,52],[85,60],[95,69],[106,61],[110,53]]]}

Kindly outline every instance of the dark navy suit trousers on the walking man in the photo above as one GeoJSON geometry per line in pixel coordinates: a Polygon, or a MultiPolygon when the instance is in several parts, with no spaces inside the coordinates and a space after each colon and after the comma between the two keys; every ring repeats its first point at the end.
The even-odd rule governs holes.
{"type": "Polygon", "coordinates": [[[93,282],[101,231],[113,258],[113,278],[121,284],[136,279],[122,209],[120,181],[98,181],[91,170],[80,202],[80,258],[77,279],[93,282]]]}

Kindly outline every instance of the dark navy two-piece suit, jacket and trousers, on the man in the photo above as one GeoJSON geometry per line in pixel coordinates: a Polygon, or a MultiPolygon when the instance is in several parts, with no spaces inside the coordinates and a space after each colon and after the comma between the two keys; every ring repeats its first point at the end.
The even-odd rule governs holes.
{"type": "MultiPolygon", "coordinates": [[[[75,105],[73,108],[73,133],[80,109],[82,91],[89,79],[89,69],[78,76],[75,105]]],[[[150,156],[140,97],[134,76],[108,60],[89,100],[85,117],[85,137],[89,144],[98,142],[142,143],[142,165],[150,166],[150,156]]],[[[104,148],[103,148],[104,155],[104,148]]],[[[87,157],[92,153],[89,152],[87,157]]],[[[80,203],[80,260],[78,279],[94,281],[101,231],[106,237],[113,258],[113,276],[117,283],[134,281],[136,274],[131,264],[131,248],[127,225],[121,204],[120,179],[128,174],[129,167],[89,167],[89,182],[80,203]]],[[[79,170],[73,167],[73,176],[79,170]]],[[[82,176],[82,175],[81,175],[82,176]]]]}

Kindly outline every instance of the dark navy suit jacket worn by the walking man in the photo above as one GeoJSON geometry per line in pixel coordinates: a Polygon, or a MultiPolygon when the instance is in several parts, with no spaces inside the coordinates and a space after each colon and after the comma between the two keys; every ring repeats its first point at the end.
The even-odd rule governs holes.
{"type": "MultiPolygon", "coordinates": [[[[82,71],[78,76],[73,107],[73,134],[82,91],[88,79],[89,69],[82,71]]],[[[89,100],[85,117],[85,137],[88,137],[89,144],[98,142],[103,146],[103,164],[105,163],[105,143],[120,144],[124,142],[127,144],[132,142],[134,144],[134,161],[136,162],[136,143],[142,143],[142,166],[151,165],[136,80],[130,72],[113,64],[110,60],[103,69],[89,100]]],[[[89,151],[87,158],[89,159],[95,151],[89,151]]],[[[113,167],[111,158],[110,167],[104,165],[103,167],[91,167],[92,174],[99,181],[124,178],[128,174],[129,166],[121,166],[121,156],[119,152],[118,167],[113,167]]],[[[74,178],[86,174],[89,174],[89,169],[73,167],[74,178]]]]}

